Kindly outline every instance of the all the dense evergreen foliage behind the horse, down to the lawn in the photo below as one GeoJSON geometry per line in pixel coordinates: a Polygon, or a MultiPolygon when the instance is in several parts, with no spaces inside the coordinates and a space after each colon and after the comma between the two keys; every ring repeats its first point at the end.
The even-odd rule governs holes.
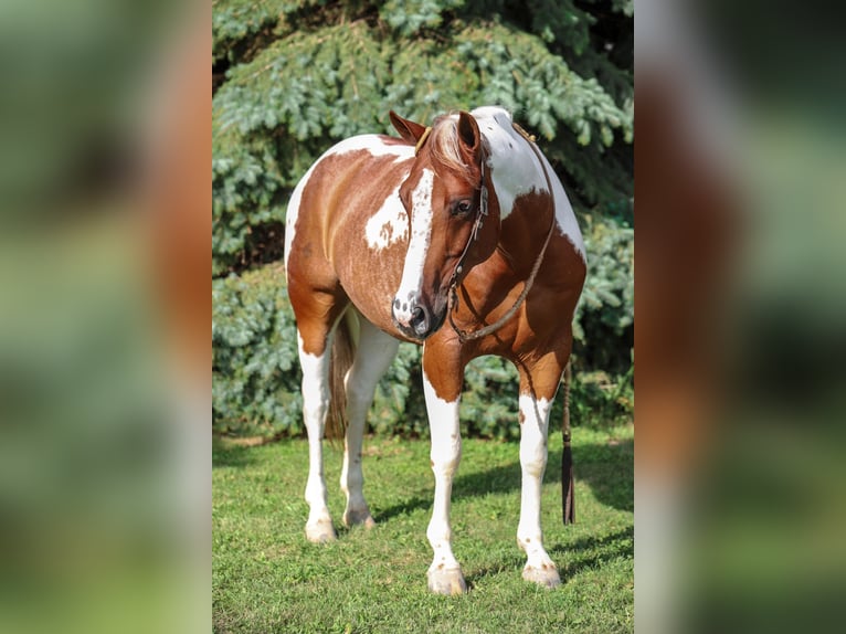
{"type": "MultiPolygon", "coordinates": [[[[296,336],[274,263],[287,199],[309,165],[343,137],[390,131],[390,109],[429,123],[483,104],[508,107],[539,136],[580,215],[590,270],[577,326],[579,406],[591,418],[631,413],[631,1],[215,0],[213,9],[219,431],[302,431],[296,336]]],[[[401,347],[372,430],[426,433],[419,359],[401,347]]],[[[474,362],[468,433],[514,433],[515,377],[501,360],[474,362]]]]}

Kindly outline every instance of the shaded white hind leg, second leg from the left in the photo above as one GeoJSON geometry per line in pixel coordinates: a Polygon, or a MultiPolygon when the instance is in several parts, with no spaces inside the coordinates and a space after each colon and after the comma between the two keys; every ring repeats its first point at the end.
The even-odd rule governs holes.
{"type": "Polygon", "coordinates": [[[363,524],[370,528],[374,522],[370,515],[370,508],[364,500],[364,478],[361,472],[361,443],[364,434],[364,422],[368,410],[373,402],[376,385],[396,356],[396,348],[400,342],[370,324],[355,309],[350,308],[350,311],[348,316],[358,318],[359,340],[356,358],[345,380],[347,436],[340,482],[341,490],[347,496],[343,524],[346,526],[363,524]]]}

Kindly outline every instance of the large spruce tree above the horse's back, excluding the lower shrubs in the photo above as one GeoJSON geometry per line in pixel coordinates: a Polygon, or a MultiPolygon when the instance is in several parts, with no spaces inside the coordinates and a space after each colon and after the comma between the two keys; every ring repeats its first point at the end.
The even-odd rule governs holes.
{"type": "Polygon", "coordinates": [[[388,110],[498,104],[538,134],[578,209],[632,196],[632,2],[219,0],[213,273],[278,256],[290,190],[388,110]]]}

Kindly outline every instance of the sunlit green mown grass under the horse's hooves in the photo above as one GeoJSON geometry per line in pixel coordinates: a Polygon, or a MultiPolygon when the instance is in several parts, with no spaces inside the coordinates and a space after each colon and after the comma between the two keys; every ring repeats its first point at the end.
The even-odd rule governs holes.
{"type": "Polygon", "coordinates": [[[515,443],[465,440],[453,488],[454,550],[469,592],[426,590],[429,443],[369,438],[364,494],[378,526],[339,526],[339,450],[325,451],[337,542],[305,539],[305,441],[213,451],[215,632],[631,632],[634,628],[634,432],[573,433],[577,524],[561,524],[561,434],[550,437],[544,543],[562,584],[525,582],[516,540],[515,443]]]}

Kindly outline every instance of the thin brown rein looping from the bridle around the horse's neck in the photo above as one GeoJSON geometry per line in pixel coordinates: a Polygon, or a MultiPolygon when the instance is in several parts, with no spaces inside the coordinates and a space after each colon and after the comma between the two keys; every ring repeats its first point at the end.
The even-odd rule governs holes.
{"type": "MultiPolygon", "coordinates": [[[[470,232],[470,236],[467,240],[467,244],[464,246],[464,252],[462,253],[461,257],[458,258],[458,264],[455,265],[455,268],[453,270],[453,275],[450,279],[450,295],[447,298],[447,313],[450,314],[450,325],[453,327],[453,330],[455,330],[455,334],[458,335],[458,340],[462,344],[465,344],[467,341],[474,341],[476,339],[480,339],[482,337],[487,337],[488,335],[496,332],[499,330],[503,326],[508,323],[509,319],[511,319],[516,314],[517,310],[519,310],[522,303],[526,300],[526,297],[529,295],[529,290],[531,289],[532,284],[535,283],[535,277],[538,275],[538,271],[540,271],[540,265],[543,262],[543,255],[547,253],[547,246],[549,245],[549,241],[552,237],[552,232],[556,229],[556,194],[552,190],[552,182],[549,178],[549,172],[547,171],[547,166],[543,165],[543,157],[540,155],[540,151],[532,142],[532,137],[530,137],[526,130],[524,130],[519,125],[511,124],[514,126],[514,129],[517,130],[520,136],[522,136],[529,144],[529,147],[535,151],[535,156],[538,157],[538,161],[540,162],[540,168],[543,170],[543,177],[547,179],[547,189],[549,190],[549,194],[551,197],[551,211],[552,211],[552,219],[549,224],[549,231],[547,232],[547,237],[543,240],[543,246],[541,246],[540,252],[538,253],[538,257],[535,260],[535,264],[531,267],[531,273],[529,273],[529,277],[526,279],[526,284],[520,292],[520,295],[517,297],[517,300],[515,302],[514,306],[511,306],[505,315],[503,315],[499,319],[497,319],[494,324],[490,324],[488,326],[485,326],[483,328],[479,328],[478,330],[467,331],[463,330],[462,328],[458,328],[458,326],[455,324],[455,320],[453,319],[453,313],[458,306],[458,294],[457,294],[457,287],[458,284],[458,276],[462,274],[463,267],[464,267],[464,258],[467,256],[467,252],[470,249],[470,245],[476,242],[478,239],[479,230],[482,229],[483,219],[488,214],[487,210],[487,198],[488,198],[488,191],[487,186],[485,184],[485,161],[482,161],[482,189],[479,192],[479,208],[476,213],[476,220],[473,223],[473,231],[470,232]]],[[[424,137],[425,138],[425,135],[424,137]]]]}

